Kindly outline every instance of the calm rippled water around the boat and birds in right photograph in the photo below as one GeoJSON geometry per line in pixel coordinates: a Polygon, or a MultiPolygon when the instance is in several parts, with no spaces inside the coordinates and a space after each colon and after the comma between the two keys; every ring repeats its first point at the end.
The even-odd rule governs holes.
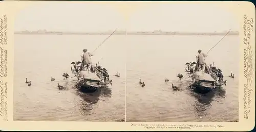
{"type": "Polygon", "coordinates": [[[127,36],[126,121],[228,122],[238,121],[238,36],[226,36],[209,52],[206,62],[222,69],[227,86],[207,95],[186,87],[185,63],[196,61],[198,49],[207,53],[223,36],[127,36]],[[178,81],[178,73],[184,75],[178,81]],[[165,77],[170,81],[165,82],[165,77]],[[145,87],[139,85],[139,79],[145,87]],[[183,91],[173,91],[172,83],[183,91]]]}

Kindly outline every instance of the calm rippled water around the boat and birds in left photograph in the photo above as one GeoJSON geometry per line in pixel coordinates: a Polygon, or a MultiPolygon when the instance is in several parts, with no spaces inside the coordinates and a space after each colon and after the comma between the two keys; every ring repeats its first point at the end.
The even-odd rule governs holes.
{"type": "Polygon", "coordinates": [[[125,35],[111,36],[92,57],[108,69],[112,86],[91,94],[72,86],[71,62],[83,49],[93,52],[108,35],[15,35],[14,120],[120,121],[125,120],[125,35]],[[115,50],[119,49],[119,50],[115,50]],[[63,80],[62,74],[70,75],[63,80]],[[120,78],[114,75],[120,73],[120,78]],[[51,82],[51,77],[55,78],[51,82]],[[31,80],[31,86],[25,84],[31,80]],[[58,90],[57,83],[68,90],[58,90]]]}

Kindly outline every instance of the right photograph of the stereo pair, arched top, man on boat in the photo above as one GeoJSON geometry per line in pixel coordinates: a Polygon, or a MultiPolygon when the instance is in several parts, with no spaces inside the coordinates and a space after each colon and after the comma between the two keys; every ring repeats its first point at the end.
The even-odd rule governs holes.
{"type": "Polygon", "coordinates": [[[126,122],[239,121],[235,14],[154,4],[135,11],[126,32],[126,122]]]}

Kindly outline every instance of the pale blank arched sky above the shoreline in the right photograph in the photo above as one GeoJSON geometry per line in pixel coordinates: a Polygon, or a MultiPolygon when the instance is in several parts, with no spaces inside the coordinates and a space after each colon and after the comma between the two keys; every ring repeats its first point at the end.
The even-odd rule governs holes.
{"type": "Polygon", "coordinates": [[[161,4],[131,15],[129,30],[141,29],[187,32],[239,30],[234,14],[214,5],[161,4]]]}

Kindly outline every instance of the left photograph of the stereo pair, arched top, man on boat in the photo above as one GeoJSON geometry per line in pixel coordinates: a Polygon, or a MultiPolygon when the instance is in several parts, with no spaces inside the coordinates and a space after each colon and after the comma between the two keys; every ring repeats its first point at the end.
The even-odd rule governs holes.
{"type": "Polygon", "coordinates": [[[13,120],[125,121],[125,26],[113,6],[40,2],[15,18],[13,120]]]}

